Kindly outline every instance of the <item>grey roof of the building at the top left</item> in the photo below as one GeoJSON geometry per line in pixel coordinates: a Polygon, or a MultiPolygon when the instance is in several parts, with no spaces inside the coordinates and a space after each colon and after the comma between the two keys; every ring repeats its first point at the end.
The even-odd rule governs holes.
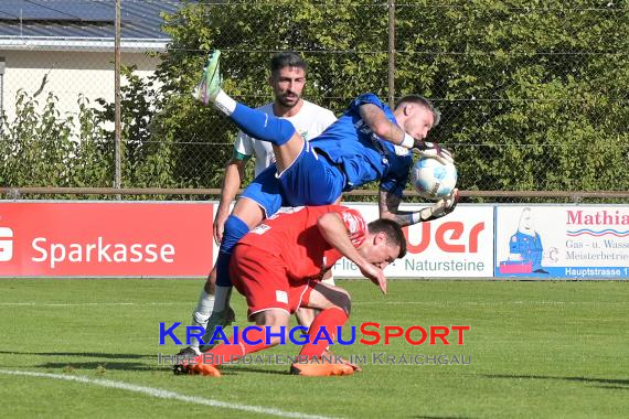
{"type": "MultiPolygon", "coordinates": [[[[162,32],[162,13],[181,7],[175,0],[121,0],[121,43],[159,44],[170,41],[162,32]]],[[[0,45],[83,49],[115,36],[115,0],[1,0],[0,45]]],[[[62,49],[63,50],[63,49],[62,49]]]]}

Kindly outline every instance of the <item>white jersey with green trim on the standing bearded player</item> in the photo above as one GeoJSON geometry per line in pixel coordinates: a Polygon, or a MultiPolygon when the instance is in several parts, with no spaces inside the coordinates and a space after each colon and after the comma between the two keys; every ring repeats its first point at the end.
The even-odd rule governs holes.
{"type": "MultiPolygon", "coordinates": [[[[274,115],[273,103],[260,106],[257,110],[262,110],[267,115],[274,115]]],[[[303,100],[303,105],[297,115],[282,119],[289,120],[297,132],[299,132],[306,141],[309,141],[332,125],[337,120],[337,117],[331,110],[314,105],[311,101],[303,100]]],[[[238,136],[234,141],[234,151],[238,154],[255,155],[256,176],[270,164],[275,163],[275,154],[273,153],[270,142],[256,140],[243,131],[238,131],[238,136]]]]}

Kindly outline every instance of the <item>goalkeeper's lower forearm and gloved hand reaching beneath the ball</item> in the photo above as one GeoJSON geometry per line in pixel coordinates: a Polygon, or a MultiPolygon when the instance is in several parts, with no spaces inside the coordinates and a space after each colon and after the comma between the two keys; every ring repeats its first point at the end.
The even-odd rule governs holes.
{"type": "Polygon", "coordinates": [[[399,210],[402,198],[399,196],[381,190],[379,195],[380,217],[393,219],[402,227],[440,218],[455,211],[459,202],[459,190],[452,190],[449,196],[437,201],[433,206],[419,211],[402,211],[399,210]]]}

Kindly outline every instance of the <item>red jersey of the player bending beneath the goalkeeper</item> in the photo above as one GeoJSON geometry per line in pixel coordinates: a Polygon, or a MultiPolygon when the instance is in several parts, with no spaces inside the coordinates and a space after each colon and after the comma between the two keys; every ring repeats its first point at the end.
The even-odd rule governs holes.
{"type": "Polygon", "coordinates": [[[317,226],[319,217],[330,212],[341,215],[355,247],[366,239],[366,223],[358,211],[340,205],[300,206],[265,219],[236,246],[257,247],[279,257],[286,264],[289,279],[321,278],[342,257],[317,226]]]}

